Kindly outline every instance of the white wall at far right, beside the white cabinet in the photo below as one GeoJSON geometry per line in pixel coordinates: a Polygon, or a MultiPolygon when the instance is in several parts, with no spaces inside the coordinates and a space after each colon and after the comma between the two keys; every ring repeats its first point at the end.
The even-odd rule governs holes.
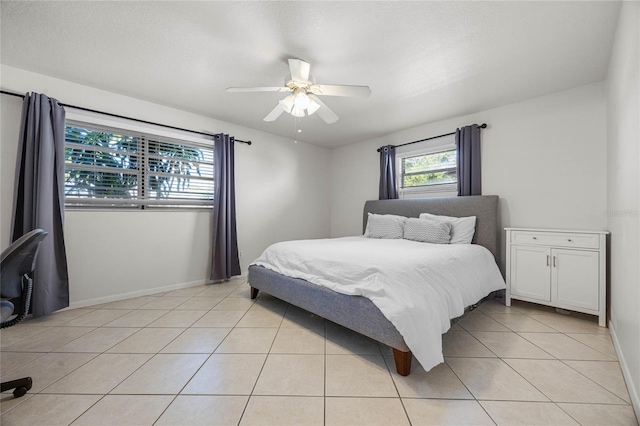
{"type": "Polygon", "coordinates": [[[611,334],[640,418],[640,6],[623,2],[607,76],[611,334]]]}

